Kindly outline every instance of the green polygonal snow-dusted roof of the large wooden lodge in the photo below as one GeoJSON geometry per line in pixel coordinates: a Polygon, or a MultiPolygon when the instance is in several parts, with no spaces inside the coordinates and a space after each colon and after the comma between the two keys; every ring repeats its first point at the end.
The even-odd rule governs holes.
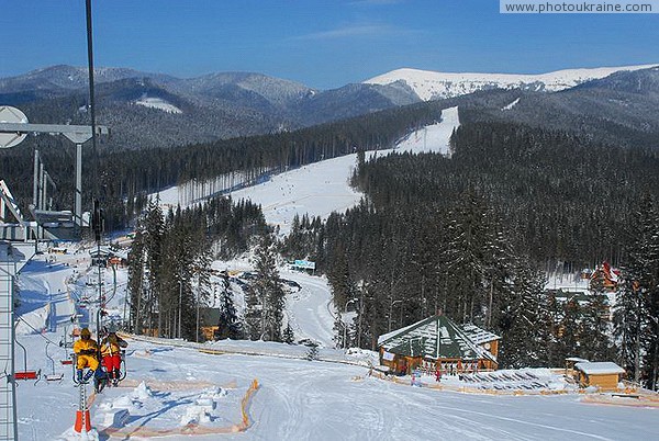
{"type": "Polygon", "coordinates": [[[378,344],[388,352],[401,355],[496,361],[494,355],[474,343],[446,316],[433,316],[386,333],[378,339],[378,344]]]}

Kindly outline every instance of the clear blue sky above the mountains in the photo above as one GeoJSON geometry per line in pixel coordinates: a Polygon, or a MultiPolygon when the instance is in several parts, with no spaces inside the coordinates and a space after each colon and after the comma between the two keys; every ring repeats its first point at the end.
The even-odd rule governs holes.
{"type": "MultiPolygon", "coordinates": [[[[659,14],[500,14],[499,0],[93,0],[94,65],[255,71],[319,89],[401,67],[539,74],[659,63],[659,14]]],[[[3,0],[0,77],[87,65],[85,0],[3,0]]]]}

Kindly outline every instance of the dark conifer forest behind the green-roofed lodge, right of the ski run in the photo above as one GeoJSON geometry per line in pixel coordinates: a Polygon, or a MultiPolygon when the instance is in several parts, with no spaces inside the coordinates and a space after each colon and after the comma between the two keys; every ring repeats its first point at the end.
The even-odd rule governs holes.
{"type": "Polygon", "coordinates": [[[315,260],[336,307],[357,312],[348,343],[373,348],[443,310],[500,332],[502,366],[619,355],[602,297],[558,302],[539,269],[625,264],[634,203],[659,195],[657,155],[505,123],[463,125],[451,148],[451,159],[360,156],[361,204],[325,224],[294,222],[282,249],[315,260]]]}

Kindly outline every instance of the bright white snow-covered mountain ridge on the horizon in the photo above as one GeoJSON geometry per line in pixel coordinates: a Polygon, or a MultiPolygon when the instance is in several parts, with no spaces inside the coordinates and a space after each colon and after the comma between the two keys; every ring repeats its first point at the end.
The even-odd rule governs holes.
{"type": "Polygon", "coordinates": [[[437,72],[418,69],[396,69],[364,81],[367,84],[407,84],[424,101],[459,97],[489,89],[525,89],[556,92],[585,81],[601,79],[617,71],[640,70],[656,65],[565,69],[538,75],[437,72]]]}

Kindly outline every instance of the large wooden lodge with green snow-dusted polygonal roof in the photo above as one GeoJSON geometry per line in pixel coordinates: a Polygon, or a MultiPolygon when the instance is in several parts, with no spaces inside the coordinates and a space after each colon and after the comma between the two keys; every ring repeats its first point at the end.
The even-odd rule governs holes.
{"type": "Polygon", "coordinates": [[[380,364],[396,374],[415,369],[443,373],[495,370],[500,337],[443,315],[380,336],[380,364]]]}

